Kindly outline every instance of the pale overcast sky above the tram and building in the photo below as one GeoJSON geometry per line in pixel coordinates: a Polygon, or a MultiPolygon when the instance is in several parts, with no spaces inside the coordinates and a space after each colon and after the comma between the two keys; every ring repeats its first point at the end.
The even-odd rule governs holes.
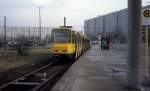
{"type": "Polygon", "coordinates": [[[64,16],[69,25],[83,26],[86,19],[127,8],[127,0],[0,0],[0,25],[6,16],[9,26],[38,26],[38,6],[42,26],[60,26],[64,16]]]}

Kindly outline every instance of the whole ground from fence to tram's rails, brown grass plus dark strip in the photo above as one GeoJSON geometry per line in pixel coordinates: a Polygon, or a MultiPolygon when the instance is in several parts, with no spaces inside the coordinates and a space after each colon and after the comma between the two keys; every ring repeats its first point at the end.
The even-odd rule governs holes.
{"type": "Polygon", "coordinates": [[[49,49],[32,49],[27,56],[16,51],[0,51],[0,85],[14,80],[50,62],[49,49]]]}

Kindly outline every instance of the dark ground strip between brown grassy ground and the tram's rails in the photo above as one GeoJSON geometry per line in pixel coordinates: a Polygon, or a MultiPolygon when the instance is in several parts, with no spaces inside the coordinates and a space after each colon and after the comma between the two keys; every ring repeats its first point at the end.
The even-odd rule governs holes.
{"type": "Polygon", "coordinates": [[[28,74],[29,72],[32,72],[40,67],[43,67],[47,64],[51,63],[50,60],[43,60],[40,62],[36,62],[33,64],[26,64],[24,66],[16,67],[14,69],[10,69],[6,72],[1,72],[0,74],[0,87],[3,84],[6,84],[12,80],[15,80],[25,74],[28,74]]]}

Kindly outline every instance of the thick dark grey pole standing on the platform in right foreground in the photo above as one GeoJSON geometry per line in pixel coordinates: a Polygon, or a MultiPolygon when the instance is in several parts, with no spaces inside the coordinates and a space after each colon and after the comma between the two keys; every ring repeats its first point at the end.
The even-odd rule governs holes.
{"type": "Polygon", "coordinates": [[[128,64],[127,78],[130,89],[140,90],[140,31],[142,0],[128,0],[128,64]]]}

